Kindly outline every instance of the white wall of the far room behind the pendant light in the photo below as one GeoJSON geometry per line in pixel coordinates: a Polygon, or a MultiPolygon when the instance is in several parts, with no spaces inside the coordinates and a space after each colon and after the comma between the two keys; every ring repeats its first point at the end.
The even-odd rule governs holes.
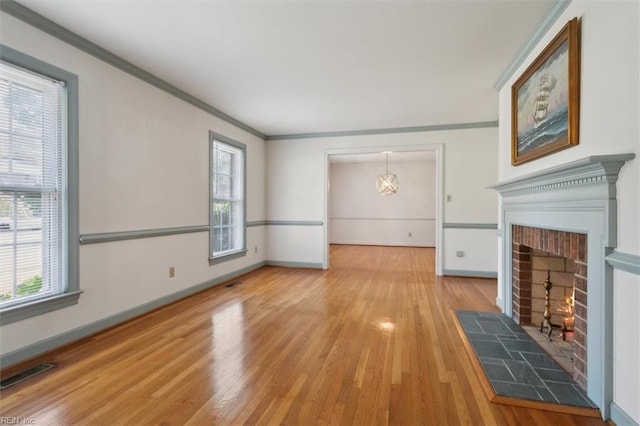
{"type": "Polygon", "coordinates": [[[436,244],[436,164],[393,161],[398,192],[380,195],[376,178],[385,172],[379,162],[333,163],[330,167],[329,241],[434,247],[436,244]]]}

